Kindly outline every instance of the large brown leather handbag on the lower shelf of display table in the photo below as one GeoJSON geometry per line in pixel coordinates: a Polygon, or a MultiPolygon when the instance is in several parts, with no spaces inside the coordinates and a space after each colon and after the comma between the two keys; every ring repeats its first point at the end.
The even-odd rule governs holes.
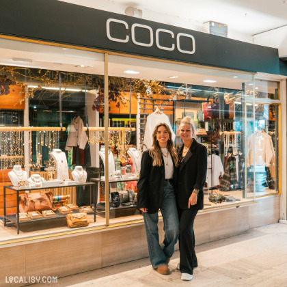
{"type": "Polygon", "coordinates": [[[23,193],[19,196],[19,211],[27,213],[29,211],[44,210],[56,211],[57,208],[53,204],[53,194],[51,191],[42,193],[23,193]]]}

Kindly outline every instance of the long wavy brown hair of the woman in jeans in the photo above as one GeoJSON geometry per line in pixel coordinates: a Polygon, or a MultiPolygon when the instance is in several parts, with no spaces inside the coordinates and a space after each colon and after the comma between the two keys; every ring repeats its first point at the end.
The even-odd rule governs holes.
{"type": "Polygon", "coordinates": [[[156,125],[154,128],[154,132],[152,133],[152,148],[150,148],[150,156],[152,156],[152,165],[153,166],[161,166],[163,165],[161,161],[161,147],[159,146],[159,141],[156,139],[157,130],[160,126],[164,126],[167,129],[167,133],[169,135],[169,140],[167,141],[167,150],[172,155],[172,159],[174,159],[174,164],[176,167],[178,166],[178,153],[176,152],[176,148],[174,148],[174,141],[172,141],[172,132],[170,131],[169,126],[164,122],[161,122],[156,125]]]}

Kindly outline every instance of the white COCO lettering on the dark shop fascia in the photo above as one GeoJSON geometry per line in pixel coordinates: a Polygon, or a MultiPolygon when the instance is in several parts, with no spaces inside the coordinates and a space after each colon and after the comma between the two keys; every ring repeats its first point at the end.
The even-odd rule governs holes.
{"type": "MultiPolygon", "coordinates": [[[[139,23],[134,23],[131,26],[131,39],[130,39],[130,36],[126,35],[127,33],[125,33],[126,38],[121,39],[121,38],[115,38],[115,37],[111,36],[111,27],[113,27],[113,25],[111,26],[111,23],[119,23],[119,24],[124,25],[124,26],[122,26],[122,25],[121,26],[125,27],[126,30],[129,29],[128,23],[126,23],[124,20],[109,18],[107,20],[107,24],[106,24],[107,38],[109,38],[109,40],[111,40],[113,42],[120,42],[120,43],[127,43],[128,41],[132,40],[133,44],[135,44],[137,46],[145,46],[145,47],[151,47],[154,45],[154,31],[152,30],[152,27],[150,27],[148,25],[142,25],[139,23]],[[150,40],[148,43],[139,42],[135,39],[135,31],[136,31],[135,29],[137,27],[142,28],[142,29],[146,29],[148,31],[148,33],[150,34],[150,37],[149,37],[150,40]]],[[[113,33],[113,34],[115,34],[115,33],[113,33]]],[[[165,50],[165,51],[174,51],[174,49],[176,48],[176,49],[178,49],[178,51],[180,53],[184,53],[184,54],[194,54],[195,53],[195,39],[192,35],[187,34],[187,33],[178,33],[176,35],[176,41],[172,40],[174,38],[175,38],[175,36],[174,36],[173,31],[170,31],[167,29],[161,29],[161,28],[156,29],[156,31],[155,31],[155,44],[156,44],[157,48],[159,48],[161,50],[165,50]],[[166,33],[170,36],[171,41],[172,41],[172,46],[163,46],[162,44],[159,44],[159,42],[160,42],[159,39],[160,39],[160,36],[162,33],[166,33]],[[191,49],[186,50],[186,49],[180,48],[180,41],[184,40],[184,38],[191,39],[191,49]],[[174,43],[174,42],[176,42],[176,43],[174,43]]]]}

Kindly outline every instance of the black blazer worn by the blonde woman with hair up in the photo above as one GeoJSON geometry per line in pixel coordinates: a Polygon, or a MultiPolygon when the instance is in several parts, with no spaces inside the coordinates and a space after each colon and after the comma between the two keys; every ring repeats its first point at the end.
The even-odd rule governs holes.
{"type": "MultiPolygon", "coordinates": [[[[178,148],[178,155],[182,153],[183,147],[184,145],[178,148]]],[[[203,187],[206,180],[206,170],[206,147],[193,139],[193,143],[180,163],[174,178],[178,205],[181,209],[188,209],[189,197],[193,189],[199,189],[200,192],[197,195],[197,204],[191,206],[190,209],[199,210],[204,207],[203,187]]]]}

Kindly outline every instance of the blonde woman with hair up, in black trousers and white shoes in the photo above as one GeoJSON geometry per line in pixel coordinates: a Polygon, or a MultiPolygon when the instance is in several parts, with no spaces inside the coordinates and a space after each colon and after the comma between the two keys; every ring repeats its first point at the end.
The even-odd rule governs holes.
{"type": "Polygon", "coordinates": [[[179,134],[183,141],[178,148],[178,172],[176,191],[180,217],[180,263],[178,269],[182,280],[193,278],[193,269],[197,267],[195,255],[195,236],[193,223],[198,210],[204,207],[203,187],[206,180],[206,147],[193,138],[195,126],[191,117],[181,120],[179,134]]]}

